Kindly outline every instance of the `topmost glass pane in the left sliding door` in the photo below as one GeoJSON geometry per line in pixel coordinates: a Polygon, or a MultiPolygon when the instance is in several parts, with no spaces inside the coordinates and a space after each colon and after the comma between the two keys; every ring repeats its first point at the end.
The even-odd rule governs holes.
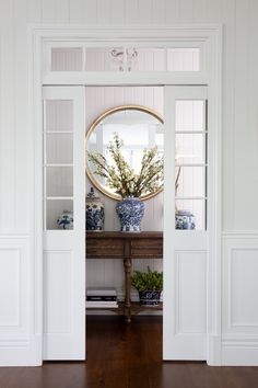
{"type": "Polygon", "coordinates": [[[73,101],[47,100],[45,102],[45,130],[73,130],[73,101]]]}

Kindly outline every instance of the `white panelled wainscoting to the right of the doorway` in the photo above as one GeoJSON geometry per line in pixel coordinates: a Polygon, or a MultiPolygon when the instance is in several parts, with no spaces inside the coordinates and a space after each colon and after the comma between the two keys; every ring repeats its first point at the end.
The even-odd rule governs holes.
{"type": "Polygon", "coordinates": [[[258,232],[224,232],[222,364],[258,365],[258,232]]]}

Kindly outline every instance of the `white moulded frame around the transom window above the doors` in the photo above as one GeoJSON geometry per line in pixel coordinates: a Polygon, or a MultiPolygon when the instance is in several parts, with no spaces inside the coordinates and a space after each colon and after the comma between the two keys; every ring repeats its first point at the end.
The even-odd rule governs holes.
{"type": "MultiPolygon", "coordinates": [[[[35,54],[38,49],[45,60],[37,64],[43,84],[213,84],[221,88],[222,25],[221,24],[173,24],[173,25],[31,25],[30,33],[35,54]],[[74,46],[122,46],[126,44],[144,47],[174,47],[195,45],[200,48],[202,67],[199,71],[140,71],[94,72],[94,71],[51,71],[51,47],[74,46]],[[219,77],[219,82],[215,79],[219,77]],[[186,82],[187,79],[187,82],[186,82]]],[[[39,59],[39,58],[38,58],[39,59]]]]}

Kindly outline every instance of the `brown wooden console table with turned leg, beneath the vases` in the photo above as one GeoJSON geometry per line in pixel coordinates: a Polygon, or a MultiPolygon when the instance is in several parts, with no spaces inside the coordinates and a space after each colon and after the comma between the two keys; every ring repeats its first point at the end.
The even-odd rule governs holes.
{"type": "Polygon", "coordinates": [[[125,269],[126,321],[131,321],[131,260],[162,259],[163,232],[87,231],[86,259],[122,259],[125,269]]]}

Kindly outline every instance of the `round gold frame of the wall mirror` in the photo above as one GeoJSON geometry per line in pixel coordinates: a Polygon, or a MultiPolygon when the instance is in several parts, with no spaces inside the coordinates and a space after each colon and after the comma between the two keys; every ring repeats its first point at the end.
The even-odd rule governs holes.
{"type": "MultiPolygon", "coordinates": [[[[160,123],[164,124],[164,121],[162,118],[162,116],[154,110],[143,106],[143,105],[118,105],[115,107],[112,107],[107,111],[105,111],[104,113],[102,113],[99,116],[97,116],[96,119],[94,119],[94,122],[91,124],[91,126],[89,127],[86,134],[85,134],[85,151],[86,151],[86,146],[87,146],[87,141],[89,138],[91,136],[91,134],[93,133],[93,130],[96,128],[96,126],[107,116],[112,115],[113,113],[116,112],[120,112],[120,111],[140,111],[140,112],[144,112],[148,113],[150,115],[152,115],[153,117],[155,117],[156,119],[159,119],[160,123]]],[[[99,183],[98,181],[95,179],[95,176],[93,175],[93,173],[90,171],[89,164],[87,164],[87,158],[85,157],[85,171],[86,171],[86,175],[89,178],[89,180],[92,182],[92,184],[103,194],[105,194],[106,196],[108,196],[109,198],[113,198],[115,201],[121,201],[121,196],[118,194],[113,194],[109,193],[107,190],[105,190],[99,183]]],[[[160,194],[163,191],[163,189],[159,189],[157,191],[155,191],[154,193],[149,193],[145,195],[141,195],[140,198],[141,201],[146,201],[150,199],[152,197],[154,197],[155,195],[160,194]]]]}

